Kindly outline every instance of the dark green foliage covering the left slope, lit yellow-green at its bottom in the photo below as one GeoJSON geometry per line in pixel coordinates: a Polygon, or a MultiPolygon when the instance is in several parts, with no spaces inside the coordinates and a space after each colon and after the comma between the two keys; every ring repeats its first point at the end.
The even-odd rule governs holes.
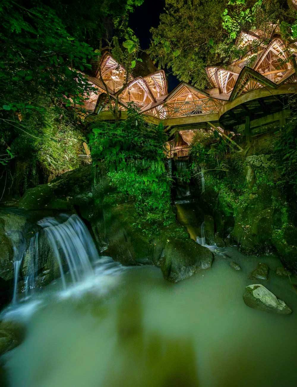
{"type": "Polygon", "coordinates": [[[51,170],[77,166],[81,127],[76,109],[67,108],[84,111],[84,99],[95,91],[84,73],[110,46],[113,34],[117,41],[132,35],[126,29],[128,14],[142,1],[93,2],[88,7],[81,0],[1,2],[0,164],[6,168],[4,176],[9,169],[9,186],[25,159],[27,168],[39,168],[41,183],[51,170]]]}

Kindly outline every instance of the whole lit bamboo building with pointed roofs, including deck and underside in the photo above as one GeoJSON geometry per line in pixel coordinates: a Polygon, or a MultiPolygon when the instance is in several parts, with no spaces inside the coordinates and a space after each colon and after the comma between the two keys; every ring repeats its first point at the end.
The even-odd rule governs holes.
{"type": "Polygon", "coordinates": [[[94,76],[86,75],[96,92],[86,97],[84,108],[102,120],[113,120],[109,94],[113,106],[118,101],[122,119],[133,101],[148,122],[179,127],[179,140],[167,144],[168,157],[187,156],[197,128],[216,127],[225,134],[243,131],[249,137],[259,127],[283,124],[289,116],[286,98],[297,90],[297,46],[287,48],[279,35],[267,44],[259,30],[242,32],[237,44],[247,48],[247,55],[225,67],[206,67],[212,87],[204,90],[182,82],[168,92],[163,70],[126,79],[125,68],[105,53],[94,76]]]}

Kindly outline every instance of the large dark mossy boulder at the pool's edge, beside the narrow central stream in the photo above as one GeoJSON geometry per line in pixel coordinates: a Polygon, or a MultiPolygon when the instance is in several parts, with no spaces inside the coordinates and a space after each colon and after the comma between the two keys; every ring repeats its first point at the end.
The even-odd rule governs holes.
{"type": "Polygon", "coordinates": [[[192,239],[168,240],[160,259],[163,276],[171,282],[179,282],[199,270],[209,269],[212,263],[210,250],[192,239]]]}

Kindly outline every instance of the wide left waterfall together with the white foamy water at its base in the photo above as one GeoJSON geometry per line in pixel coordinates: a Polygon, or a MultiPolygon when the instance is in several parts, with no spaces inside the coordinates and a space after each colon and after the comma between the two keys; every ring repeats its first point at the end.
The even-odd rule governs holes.
{"type": "Polygon", "coordinates": [[[21,259],[15,259],[14,262],[14,296],[9,307],[1,313],[0,319],[25,322],[36,308],[51,301],[80,297],[88,293],[105,295],[111,288],[118,286],[120,276],[126,270],[111,257],[98,255],[91,234],[79,216],[60,214],[57,219],[45,217],[38,225],[43,230],[30,239],[29,247],[26,249],[22,239],[22,250],[15,249],[15,258],[21,259]],[[42,243],[41,233],[45,233],[50,243],[60,269],[60,279],[36,292],[41,280],[41,277],[38,277],[38,261],[42,258],[42,250],[38,249],[38,243],[42,243]],[[22,262],[26,262],[27,267],[23,288],[25,297],[18,299],[18,279],[22,262]]]}

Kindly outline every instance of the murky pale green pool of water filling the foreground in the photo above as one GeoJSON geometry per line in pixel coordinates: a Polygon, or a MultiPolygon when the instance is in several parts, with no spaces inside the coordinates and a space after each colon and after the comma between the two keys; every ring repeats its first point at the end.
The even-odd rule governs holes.
{"type": "Polygon", "coordinates": [[[294,278],[276,276],[276,258],[227,253],[178,284],[156,267],[108,271],[99,264],[80,285],[52,285],[6,312],[27,327],[22,344],[2,357],[7,386],[295,387],[294,278]],[[268,281],[248,279],[258,262],[270,266],[268,281]],[[247,307],[242,294],[251,283],[262,283],[293,313],[247,307]]]}

